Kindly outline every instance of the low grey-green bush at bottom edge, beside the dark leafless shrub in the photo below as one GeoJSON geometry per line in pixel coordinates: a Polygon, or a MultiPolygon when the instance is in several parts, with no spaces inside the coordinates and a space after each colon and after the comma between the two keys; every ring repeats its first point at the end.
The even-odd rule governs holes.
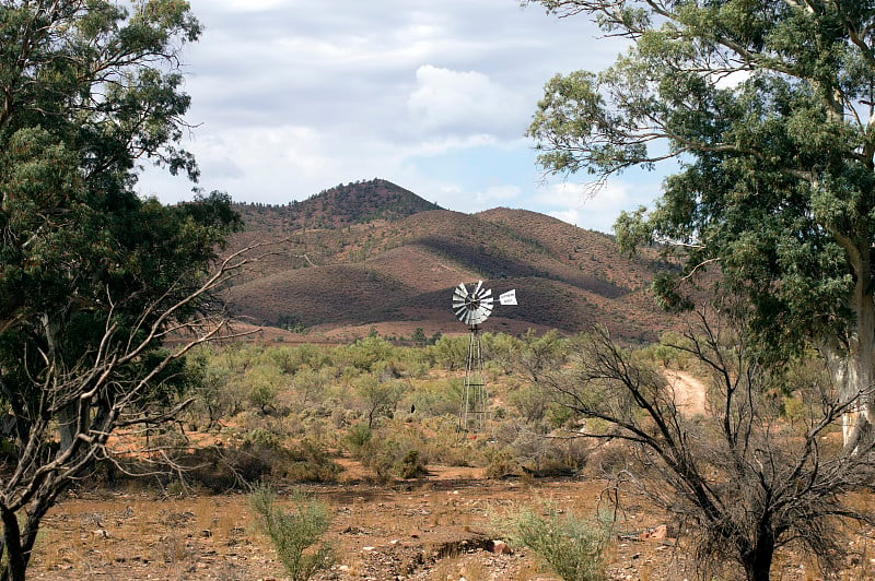
{"type": "Polygon", "coordinates": [[[545,506],[541,515],[524,507],[499,523],[512,543],[534,550],[567,581],[602,581],[608,531],[604,524],[581,520],[545,506]]]}

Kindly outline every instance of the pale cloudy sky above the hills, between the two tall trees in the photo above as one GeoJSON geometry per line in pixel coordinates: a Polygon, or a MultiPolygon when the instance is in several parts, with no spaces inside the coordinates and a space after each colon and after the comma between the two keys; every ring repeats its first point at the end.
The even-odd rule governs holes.
{"type": "MultiPolygon", "coordinates": [[[[520,208],[611,232],[650,205],[661,177],[633,170],[587,195],[550,177],[526,129],[556,73],[598,71],[623,51],[586,16],[520,0],[190,0],[205,26],[185,48],[198,187],[285,204],[387,179],[458,212],[520,208]]],[[[147,169],[144,197],[192,198],[147,169]]]]}

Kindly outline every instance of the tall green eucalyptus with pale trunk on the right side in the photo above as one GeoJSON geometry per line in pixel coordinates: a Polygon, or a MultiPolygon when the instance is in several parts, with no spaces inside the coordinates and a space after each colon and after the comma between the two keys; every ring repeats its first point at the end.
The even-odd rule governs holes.
{"type": "Polygon", "coordinates": [[[679,281],[719,268],[750,298],[762,353],[816,345],[860,404],[845,444],[871,437],[875,2],[537,3],[630,43],[606,70],[548,82],[529,129],[544,167],[598,181],[676,159],[654,208],[618,220],[627,248],[657,240],[682,257],[657,281],[675,306],[679,281]]]}

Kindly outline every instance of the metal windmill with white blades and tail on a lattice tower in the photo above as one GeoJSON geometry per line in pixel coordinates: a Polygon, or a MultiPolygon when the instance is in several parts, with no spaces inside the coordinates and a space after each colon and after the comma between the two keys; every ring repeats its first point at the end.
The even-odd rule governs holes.
{"type": "MultiPolygon", "coordinates": [[[[509,290],[499,297],[501,305],[516,305],[516,290],[509,290]]],[[[470,329],[468,340],[468,361],[465,366],[465,389],[458,414],[459,431],[483,431],[488,419],[489,396],[483,381],[483,355],[480,349],[480,323],[486,321],[494,308],[491,288],[483,288],[479,281],[474,290],[465,283],[453,290],[453,312],[470,329]]]]}

